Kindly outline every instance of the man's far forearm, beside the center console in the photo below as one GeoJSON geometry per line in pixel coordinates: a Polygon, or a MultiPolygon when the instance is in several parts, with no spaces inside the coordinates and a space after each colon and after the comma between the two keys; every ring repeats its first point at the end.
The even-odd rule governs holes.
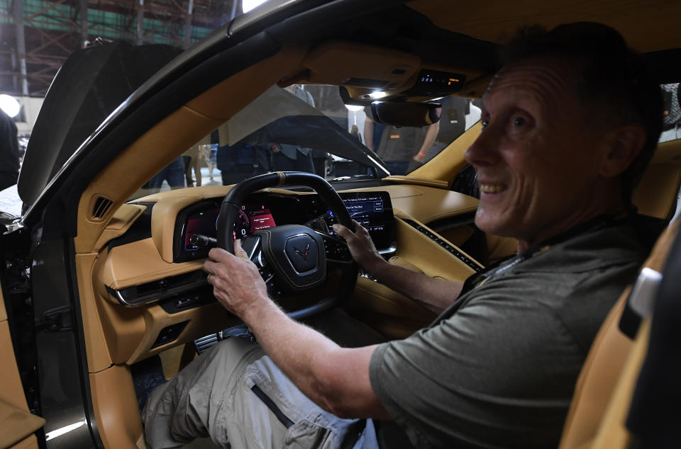
{"type": "Polygon", "coordinates": [[[365,269],[380,283],[438,313],[449,307],[463,288],[458,281],[431,278],[383,259],[372,261],[365,269]]]}

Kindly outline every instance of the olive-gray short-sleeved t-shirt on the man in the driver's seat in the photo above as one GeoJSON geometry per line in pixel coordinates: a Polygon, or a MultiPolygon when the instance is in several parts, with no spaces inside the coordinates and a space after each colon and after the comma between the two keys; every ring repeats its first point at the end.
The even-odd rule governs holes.
{"type": "Polygon", "coordinates": [[[647,253],[626,225],[549,246],[378,346],[372,388],[416,448],[555,448],[589,346],[647,253]]]}

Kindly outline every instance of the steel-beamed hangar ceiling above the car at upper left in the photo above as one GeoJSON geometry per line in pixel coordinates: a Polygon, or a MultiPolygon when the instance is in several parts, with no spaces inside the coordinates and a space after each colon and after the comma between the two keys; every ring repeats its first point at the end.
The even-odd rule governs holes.
{"type": "Polygon", "coordinates": [[[98,39],[187,48],[240,0],[0,0],[0,93],[45,96],[68,55],[98,39]]]}

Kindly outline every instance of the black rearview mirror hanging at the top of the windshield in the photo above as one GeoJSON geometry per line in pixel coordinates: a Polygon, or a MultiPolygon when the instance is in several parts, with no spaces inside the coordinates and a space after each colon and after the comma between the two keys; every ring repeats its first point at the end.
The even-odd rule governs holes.
{"type": "Polygon", "coordinates": [[[371,103],[372,119],[377,123],[393,126],[421,127],[433,125],[440,120],[442,106],[438,103],[371,103]]]}

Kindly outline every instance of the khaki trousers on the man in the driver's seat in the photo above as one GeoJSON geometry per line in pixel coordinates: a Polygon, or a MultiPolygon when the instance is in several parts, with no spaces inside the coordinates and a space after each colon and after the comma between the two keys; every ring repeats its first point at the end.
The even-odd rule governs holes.
{"type": "Polygon", "coordinates": [[[206,436],[233,449],[378,447],[371,420],[324,411],[258,343],[234,337],[158,387],[143,421],[151,448],[177,448],[206,436]]]}

